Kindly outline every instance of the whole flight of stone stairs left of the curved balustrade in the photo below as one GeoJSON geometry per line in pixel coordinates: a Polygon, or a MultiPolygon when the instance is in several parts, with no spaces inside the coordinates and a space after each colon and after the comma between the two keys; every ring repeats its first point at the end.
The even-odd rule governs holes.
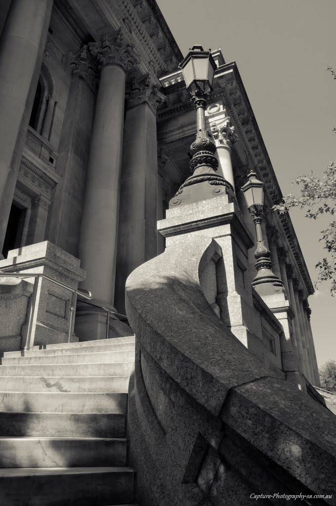
{"type": "Polygon", "coordinates": [[[127,392],[134,336],[7,352],[0,365],[0,504],[133,503],[127,392]]]}

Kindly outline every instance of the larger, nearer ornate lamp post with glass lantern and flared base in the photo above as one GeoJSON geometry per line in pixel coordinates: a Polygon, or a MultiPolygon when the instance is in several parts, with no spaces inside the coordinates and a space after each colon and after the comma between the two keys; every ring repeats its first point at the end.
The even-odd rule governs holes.
{"type": "Polygon", "coordinates": [[[179,67],[191,96],[191,103],[196,109],[197,134],[195,141],[190,146],[192,176],[187,178],[175,197],[171,199],[170,207],[210,198],[224,193],[229,188],[233,191],[231,184],[216,174],[218,168],[218,159],[215,156],[216,144],[212,133],[205,129],[206,100],[213,89],[212,82],[216,69],[211,51],[204,51],[202,46],[193,46],[179,67]],[[196,183],[200,184],[197,184],[197,187],[191,191],[190,187],[196,183]],[[224,188],[214,189],[209,185],[218,185],[224,188]],[[183,195],[181,195],[182,193],[183,195]]]}

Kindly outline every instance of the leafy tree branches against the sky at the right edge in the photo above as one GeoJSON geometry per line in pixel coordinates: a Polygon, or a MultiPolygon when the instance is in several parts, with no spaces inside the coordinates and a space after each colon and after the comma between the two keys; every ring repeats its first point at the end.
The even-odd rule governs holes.
{"type": "MultiPolygon", "coordinates": [[[[328,67],[332,77],[336,79],[336,70],[328,67]]],[[[336,129],[333,129],[336,133],[336,129]]],[[[301,186],[300,196],[292,193],[285,195],[277,209],[280,214],[285,213],[291,207],[306,209],[306,218],[316,220],[321,215],[329,215],[330,223],[325,230],[321,231],[320,241],[324,242],[327,256],[316,264],[319,269],[318,282],[330,281],[330,293],[336,294],[336,221],[332,217],[336,214],[336,162],[331,162],[323,173],[323,178],[318,178],[311,172],[305,176],[299,176],[293,183],[301,186]]]]}

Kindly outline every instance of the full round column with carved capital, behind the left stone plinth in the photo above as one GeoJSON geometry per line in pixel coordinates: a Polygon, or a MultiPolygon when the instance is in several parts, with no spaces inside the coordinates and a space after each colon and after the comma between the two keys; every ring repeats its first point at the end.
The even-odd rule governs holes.
{"type": "Polygon", "coordinates": [[[119,189],[126,72],[137,60],[133,45],[119,30],[90,45],[101,74],[93,123],[79,258],[87,271],[82,286],[111,306],[114,299],[119,189]]]}

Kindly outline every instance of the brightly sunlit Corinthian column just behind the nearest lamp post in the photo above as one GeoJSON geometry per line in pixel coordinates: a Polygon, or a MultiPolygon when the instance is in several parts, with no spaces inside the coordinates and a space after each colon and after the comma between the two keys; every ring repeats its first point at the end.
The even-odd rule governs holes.
{"type": "Polygon", "coordinates": [[[238,138],[234,126],[231,125],[230,118],[227,118],[221,125],[217,125],[216,122],[211,123],[211,132],[214,136],[219,159],[218,174],[222,173],[221,176],[231,184],[234,190],[231,147],[238,138]]]}

